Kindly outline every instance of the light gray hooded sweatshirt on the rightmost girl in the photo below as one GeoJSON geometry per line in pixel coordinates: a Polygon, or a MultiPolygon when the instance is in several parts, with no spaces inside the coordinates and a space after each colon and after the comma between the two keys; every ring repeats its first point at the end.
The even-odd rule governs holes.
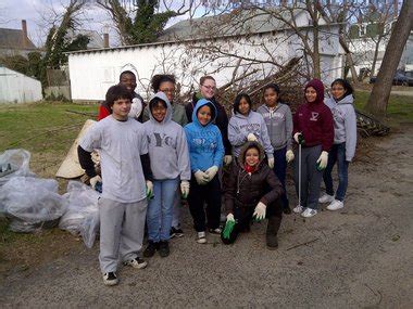
{"type": "Polygon", "coordinates": [[[358,140],[358,125],[353,106],[352,94],[336,102],[333,98],[324,100],[324,103],[331,110],[334,117],[334,143],[346,142],[346,160],[351,162],[355,153],[358,140]]]}

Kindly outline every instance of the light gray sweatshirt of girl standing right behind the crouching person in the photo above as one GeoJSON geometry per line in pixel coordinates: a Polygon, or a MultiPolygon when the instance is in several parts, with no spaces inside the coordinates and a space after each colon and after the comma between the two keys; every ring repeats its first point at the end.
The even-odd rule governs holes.
{"type": "Polygon", "coordinates": [[[265,150],[266,156],[268,158],[273,158],[274,149],[271,145],[265,121],[259,113],[252,111],[248,114],[248,116],[243,116],[240,113],[235,113],[235,115],[229,119],[228,140],[233,145],[234,156],[239,156],[241,147],[247,142],[247,136],[249,133],[253,133],[258,138],[259,143],[265,150]]]}

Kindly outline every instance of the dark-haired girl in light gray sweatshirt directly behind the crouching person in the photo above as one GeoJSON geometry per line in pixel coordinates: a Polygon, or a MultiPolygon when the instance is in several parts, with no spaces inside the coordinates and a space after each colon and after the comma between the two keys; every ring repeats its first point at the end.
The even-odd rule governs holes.
{"type": "Polygon", "coordinates": [[[263,145],[271,168],[274,167],[274,149],[263,117],[252,111],[251,98],[239,93],[234,100],[234,115],[229,119],[228,140],[233,145],[233,155],[238,158],[241,147],[247,142],[259,142],[263,145]]]}

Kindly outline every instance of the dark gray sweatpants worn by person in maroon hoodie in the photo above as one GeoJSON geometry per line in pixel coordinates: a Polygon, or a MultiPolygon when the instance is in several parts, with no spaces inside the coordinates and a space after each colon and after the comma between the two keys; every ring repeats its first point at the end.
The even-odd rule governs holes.
{"type": "MultiPolygon", "coordinates": [[[[301,201],[300,205],[312,209],[318,209],[320,185],[323,171],[317,170],[316,163],[322,154],[322,146],[301,147],[301,201]]],[[[296,192],[298,194],[298,149],[295,153],[296,192]]]]}

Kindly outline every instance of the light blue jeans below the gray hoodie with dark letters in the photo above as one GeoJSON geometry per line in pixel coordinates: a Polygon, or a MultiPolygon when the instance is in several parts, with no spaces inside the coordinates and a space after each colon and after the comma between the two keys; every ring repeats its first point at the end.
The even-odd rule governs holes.
{"type": "Polygon", "coordinates": [[[173,203],[179,180],[153,181],[153,198],[147,211],[148,239],[152,242],[168,241],[172,226],[173,203]]]}

